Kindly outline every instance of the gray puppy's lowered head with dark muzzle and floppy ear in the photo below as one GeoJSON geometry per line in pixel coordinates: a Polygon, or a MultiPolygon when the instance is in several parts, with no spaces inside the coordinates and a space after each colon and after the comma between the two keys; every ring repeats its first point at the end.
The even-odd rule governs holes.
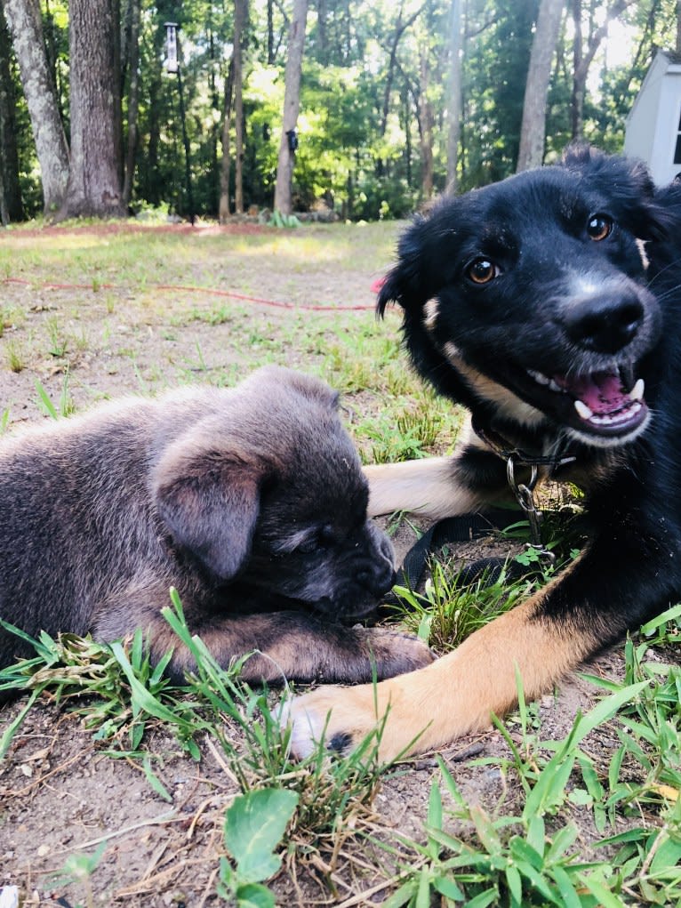
{"type": "Polygon", "coordinates": [[[267,368],[225,395],[222,412],[165,450],[153,497],[175,545],[238,583],[247,610],[360,617],[392,584],[338,395],[307,376],[267,368]]]}

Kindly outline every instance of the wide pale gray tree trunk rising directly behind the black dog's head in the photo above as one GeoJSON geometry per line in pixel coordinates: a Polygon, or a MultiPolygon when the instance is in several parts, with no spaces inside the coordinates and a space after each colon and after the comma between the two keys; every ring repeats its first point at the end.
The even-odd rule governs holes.
{"type": "Polygon", "coordinates": [[[564,0],[541,0],[537,30],[529,57],[523,119],[520,128],[517,171],[540,167],[544,161],[547,127],[548,85],[551,62],[558,41],[564,0]]]}

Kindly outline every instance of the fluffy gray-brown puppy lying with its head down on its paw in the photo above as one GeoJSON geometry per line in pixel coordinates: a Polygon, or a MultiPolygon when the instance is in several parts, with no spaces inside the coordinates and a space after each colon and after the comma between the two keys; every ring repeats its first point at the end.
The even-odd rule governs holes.
{"type": "MultiPolygon", "coordinates": [[[[168,672],[192,660],[160,614],[177,587],[187,624],[247,680],[354,682],[423,666],[428,649],[344,627],[393,578],[367,520],[338,395],[291,370],[235,390],[127,398],[0,442],[0,617],[35,636],[136,627],[168,672]]],[[[0,629],[0,666],[29,649],[0,629]]]]}

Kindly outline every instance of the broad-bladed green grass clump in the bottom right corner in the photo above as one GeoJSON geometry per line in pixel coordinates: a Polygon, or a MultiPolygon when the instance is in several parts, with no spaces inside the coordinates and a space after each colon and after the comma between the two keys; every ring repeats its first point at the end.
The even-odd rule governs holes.
{"type": "Polygon", "coordinates": [[[522,746],[516,745],[504,725],[498,727],[506,737],[513,769],[525,790],[521,813],[490,813],[479,804],[467,803],[440,758],[440,784],[452,806],[445,809],[440,785],[434,781],[426,843],[409,843],[418,866],[405,870],[400,887],[384,903],[387,908],[419,908],[429,905],[432,897],[445,906],[465,903],[508,908],[677,904],[681,900],[681,809],[677,792],[676,802],[667,802],[666,822],[661,827],[653,831],[638,827],[596,843],[597,849],[621,846],[609,862],[580,858],[577,824],[565,817],[568,804],[581,800],[573,796],[579,791],[572,782],[577,767],[581,768],[588,797],[593,795],[599,806],[606,798],[590,759],[579,745],[618,710],[629,703],[637,704],[646,686],[646,680],[620,686],[587,715],[577,716],[568,737],[559,744],[539,743],[534,732],[528,732],[527,707],[518,687],[522,746]],[[553,752],[548,759],[546,751],[553,752]],[[467,832],[450,833],[445,823],[447,814],[459,825],[464,824],[467,832]]]}

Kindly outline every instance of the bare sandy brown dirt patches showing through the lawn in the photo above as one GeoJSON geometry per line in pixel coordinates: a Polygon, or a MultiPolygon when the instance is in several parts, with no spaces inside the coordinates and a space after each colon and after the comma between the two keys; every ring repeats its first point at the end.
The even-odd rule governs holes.
{"type": "MultiPolygon", "coordinates": [[[[26,242],[30,242],[28,236],[26,242]]],[[[348,279],[354,285],[344,288],[343,299],[370,309],[370,281],[375,277],[375,273],[366,273],[348,279]]],[[[192,274],[186,279],[193,282],[192,274]]],[[[163,281],[161,273],[159,280],[163,281]]],[[[314,274],[299,275],[295,290],[282,293],[276,273],[263,270],[257,295],[272,301],[282,297],[300,301],[312,283],[319,294],[314,274]]],[[[215,297],[208,292],[174,292],[170,306],[167,293],[150,289],[143,306],[137,299],[134,308],[128,305],[124,288],[100,286],[83,292],[86,305],[75,312],[73,291],[68,287],[39,283],[2,286],[5,307],[21,307],[26,313],[22,331],[35,335],[48,331],[50,320],[56,317],[60,331],[72,339],[84,338],[80,347],[69,341],[68,357],[69,393],[81,406],[100,396],[140,387],[155,390],[196,373],[210,380],[212,370],[224,369],[226,361],[236,371],[248,368],[252,349],[232,346],[229,321],[216,327],[210,320],[185,318],[178,326],[180,310],[212,311],[215,297]]],[[[328,292],[334,292],[331,280],[328,292]]],[[[239,338],[243,337],[242,320],[248,320],[253,343],[263,343],[268,333],[283,331],[290,320],[286,310],[276,307],[239,300],[230,305],[231,317],[240,320],[239,338]]],[[[367,318],[372,318],[370,313],[367,318]]],[[[21,340],[22,331],[5,328],[5,347],[15,337],[21,340]]],[[[313,355],[308,353],[306,361],[313,355]]],[[[290,363],[296,364],[298,359],[298,351],[291,348],[290,363]]],[[[0,372],[0,401],[9,408],[10,422],[41,418],[35,404],[36,379],[53,400],[58,400],[64,388],[64,357],[43,350],[40,355],[32,354],[26,366],[14,372],[4,365],[0,372]]],[[[398,548],[403,550],[411,538],[411,531],[403,529],[398,548]]],[[[590,670],[617,676],[620,656],[605,656],[590,670]]],[[[578,677],[569,678],[555,696],[545,696],[539,705],[542,737],[566,735],[577,710],[586,709],[593,699],[592,686],[578,677]]],[[[0,710],[0,734],[20,706],[0,710]]],[[[603,766],[615,746],[614,737],[601,729],[587,741],[586,749],[597,766],[603,766]]],[[[210,740],[202,742],[199,763],[183,755],[161,727],[146,741],[146,747],[156,755],[154,771],[170,802],[153,791],[139,761],[107,755],[104,745],[67,709],[49,702],[35,706],[0,765],[0,886],[19,886],[25,905],[61,904],[67,908],[87,903],[87,881],[58,877],[63,877],[69,855],[91,854],[105,843],[104,856],[92,874],[93,904],[202,908],[221,903],[214,883],[219,856],[224,854],[224,809],[237,790],[232,777],[210,740]]],[[[443,758],[469,801],[493,806],[505,799],[508,807],[519,795],[508,788],[505,775],[494,765],[471,762],[506,754],[501,735],[490,731],[458,741],[443,752],[443,758]]],[[[425,755],[387,775],[372,805],[370,823],[377,830],[399,831],[421,840],[435,769],[434,756],[425,755]]],[[[574,807],[574,816],[587,856],[588,842],[595,834],[590,814],[586,808],[574,807]]],[[[284,906],[350,908],[382,903],[390,893],[389,879],[390,862],[385,856],[349,838],[325,866],[306,866],[304,860],[294,862],[290,855],[271,885],[284,906]],[[384,873],[379,869],[383,865],[387,867],[384,873]]]]}

